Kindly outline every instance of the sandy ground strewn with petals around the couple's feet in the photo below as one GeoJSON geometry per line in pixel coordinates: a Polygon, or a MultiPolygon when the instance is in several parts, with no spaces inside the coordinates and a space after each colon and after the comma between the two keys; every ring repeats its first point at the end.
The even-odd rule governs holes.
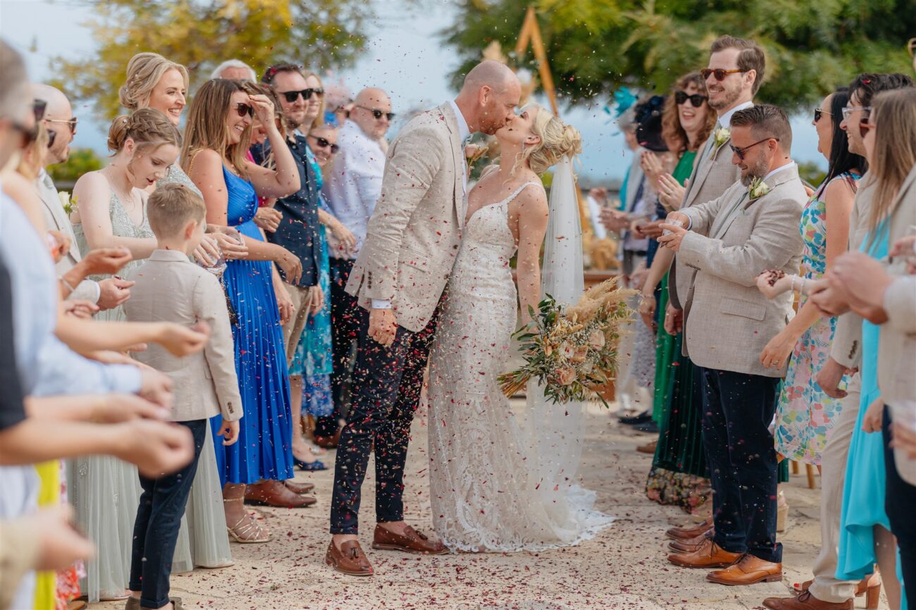
{"type": "MultiPolygon", "coordinates": [[[[706,571],[678,568],[665,559],[665,529],[682,525],[689,517],[678,508],[660,507],[643,494],[651,457],[634,450],[649,437],[620,426],[607,409],[597,406],[590,408],[588,424],[583,485],[597,491],[597,507],[617,521],[578,547],[538,554],[438,557],[372,550],[375,511],[370,464],[360,512],[361,542],[376,576],[344,576],[324,564],[333,479],[328,470],[297,475],[297,480],[315,483],[319,501],[314,507],[258,509],[274,533],[272,542],[234,544],[233,567],[173,575],[172,594],[183,599],[185,608],[227,610],[732,610],[763,608],[764,597],[787,594],[791,583],[810,578],[820,545],[820,490],[807,488],[803,470],[786,485],[791,511],[790,527],[781,537],[784,582],[744,587],[707,583],[706,571]]],[[[424,413],[415,420],[412,434],[406,518],[429,531],[424,413]]],[[[333,467],[333,452],[326,458],[333,467]]],[[[92,606],[93,610],[123,607],[124,602],[92,606]]],[[[856,600],[856,607],[864,607],[864,600],[856,600]]]]}

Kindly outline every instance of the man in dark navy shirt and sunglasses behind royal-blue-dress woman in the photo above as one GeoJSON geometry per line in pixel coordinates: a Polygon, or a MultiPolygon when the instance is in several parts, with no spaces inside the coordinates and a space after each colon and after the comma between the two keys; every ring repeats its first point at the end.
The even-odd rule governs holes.
{"type": "MultiPolygon", "coordinates": [[[[324,296],[319,278],[322,259],[322,243],[318,219],[319,187],[317,165],[313,160],[309,138],[305,136],[311,126],[323,116],[324,90],[315,74],[303,73],[298,66],[280,63],[265,71],[261,82],[270,86],[277,94],[289,133],[286,146],[296,161],[299,170],[300,189],[288,197],[279,198],[275,209],[283,214],[283,221],[276,231],[267,234],[267,241],[289,249],[299,256],[302,273],[298,279],[289,278],[281,272],[284,286],[293,303],[293,313],[283,325],[283,339],[289,365],[290,408],[292,412],[292,452],[294,463],[302,470],[324,470],[323,463],[316,461],[303,436],[301,424],[302,383],[304,369],[302,361],[294,356],[299,346],[305,323],[310,313],[322,309],[324,296]]],[[[267,157],[265,147],[260,155],[255,151],[256,160],[267,157]]]]}

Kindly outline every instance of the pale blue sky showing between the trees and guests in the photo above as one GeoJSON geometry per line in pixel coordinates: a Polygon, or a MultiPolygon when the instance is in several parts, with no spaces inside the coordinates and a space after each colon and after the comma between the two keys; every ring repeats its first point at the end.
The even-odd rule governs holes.
{"type": "MultiPolygon", "coordinates": [[[[438,36],[443,28],[453,25],[453,2],[425,0],[421,9],[409,10],[398,10],[398,5],[399,0],[386,1],[385,14],[369,28],[365,55],[353,69],[339,76],[354,92],[365,86],[386,89],[391,93],[395,112],[403,113],[452,97],[455,92],[447,74],[458,61],[453,49],[443,46],[438,36]]],[[[92,53],[93,39],[81,25],[90,16],[85,5],[66,0],[0,0],[0,35],[25,55],[30,78],[42,81],[61,76],[49,65],[51,58],[92,53]]],[[[66,76],[62,80],[66,81],[66,76]]],[[[609,122],[602,103],[561,109],[562,118],[583,134],[579,173],[598,181],[622,178],[630,158],[623,136],[609,122]]],[[[75,112],[81,118],[75,146],[104,153],[107,125],[94,121],[85,105],[77,105],[75,112]]],[[[792,129],[793,157],[799,161],[813,160],[825,167],[823,157],[817,152],[811,118],[795,118],[792,129]]]]}

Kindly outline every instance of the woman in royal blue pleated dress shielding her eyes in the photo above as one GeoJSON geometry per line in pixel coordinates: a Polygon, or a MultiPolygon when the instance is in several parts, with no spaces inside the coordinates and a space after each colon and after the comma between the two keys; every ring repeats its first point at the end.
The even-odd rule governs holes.
{"type": "Polygon", "coordinates": [[[224,79],[205,82],[194,97],[181,158],[202,192],[207,222],[234,226],[248,248],[246,259],[226,263],[223,276],[245,415],[237,443],[224,447],[220,437],[213,438],[229,535],[238,542],[266,542],[270,534],[245,511],[246,487],[256,496],[282,497],[289,490],[280,482],[293,476],[289,375],[271,266],[296,277],[301,265],[287,249],[263,241],[253,219],[258,196],[299,190],[299,170],[274,124],[273,103],[224,79]],[[275,169],[245,156],[255,114],[276,151],[275,169]]]}

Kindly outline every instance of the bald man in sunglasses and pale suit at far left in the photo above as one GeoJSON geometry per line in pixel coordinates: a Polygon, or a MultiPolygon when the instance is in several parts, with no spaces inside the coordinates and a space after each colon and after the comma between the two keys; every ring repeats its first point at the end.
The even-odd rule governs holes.
{"type": "MultiPolygon", "coordinates": [[[[44,124],[55,134],[53,146],[48,148],[47,165],[63,163],[70,157],[70,145],[76,136],[76,117],[70,101],[59,89],[46,84],[32,84],[32,95],[36,100],[41,100],[45,106],[44,124]]],[[[60,203],[54,180],[48,175],[47,169],[41,169],[38,174],[38,194],[41,196],[41,212],[45,217],[45,226],[49,229],[60,231],[70,238],[70,251],[57,263],[57,273],[61,275],[70,271],[81,260],[80,248],[76,245],[73,227],[67,212],[60,203]]],[[[100,282],[92,279],[83,279],[73,287],[68,295],[68,300],[88,300],[99,306],[101,310],[110,310],[121,305],[130,297],[131,282],[120,278],[107,278],[100,282]]]]}

